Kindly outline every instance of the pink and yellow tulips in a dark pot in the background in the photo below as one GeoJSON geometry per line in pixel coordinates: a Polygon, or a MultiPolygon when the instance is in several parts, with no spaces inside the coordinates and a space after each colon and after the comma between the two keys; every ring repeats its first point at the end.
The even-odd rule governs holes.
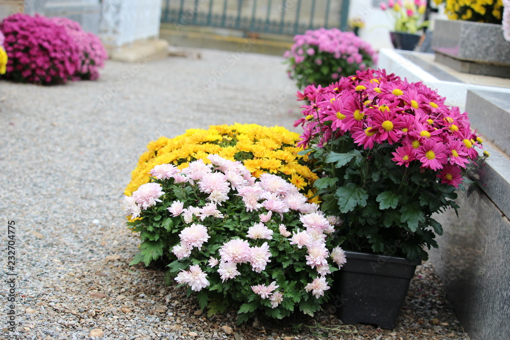
{"type": "Polygon", "coordinates": [[[393,0],[381,3],[383,11],[389,12],[395,22],[390,39],[396,49],[414,50],[420,41],[421,30],[428,27],[428,21],[424,20],[426,1],[424,0],[393,0]]]}

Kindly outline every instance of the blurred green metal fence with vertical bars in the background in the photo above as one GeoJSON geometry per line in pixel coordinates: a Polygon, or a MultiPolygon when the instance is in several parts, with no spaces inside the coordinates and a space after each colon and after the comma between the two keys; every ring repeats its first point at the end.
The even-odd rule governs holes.
{"type": "Polygon", "coordinates": [[[295,35],[347,28],[348,0],[162,0],[162,22],[295,35]]]}

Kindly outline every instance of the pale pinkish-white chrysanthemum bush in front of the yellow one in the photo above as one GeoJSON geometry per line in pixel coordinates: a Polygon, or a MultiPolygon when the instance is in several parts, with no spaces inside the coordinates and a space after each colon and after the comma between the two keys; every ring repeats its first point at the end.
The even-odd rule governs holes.
{"type": "Polygon", "coordinates": [[[167,279],[195,292],[210,315],[227,305],[239,308],[238,322],[257,311],[313,315],[329,297],[329,274],[345,263],[331,246],[341,221],[281,177],[253,177],[217,154],[208,160],[157,165],[125,196],[124,215],[142,240],[131,265],[164,261],[167,279]]]}

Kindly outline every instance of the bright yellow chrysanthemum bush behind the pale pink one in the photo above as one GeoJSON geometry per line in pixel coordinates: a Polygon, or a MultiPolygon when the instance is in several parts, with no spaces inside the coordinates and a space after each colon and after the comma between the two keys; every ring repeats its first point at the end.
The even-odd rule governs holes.
{"type": "Polygon", "coordinates": [[[125,195],[131,195],[149,182],[149,171],[156,165],[173,164],[180,169],[189,162],[218,154],[231,161],[241,161],[254,177],[268,172],[276,174],[296,186],[310,202],[318,202],[312,190],[317,175],[307,166],[308,157],[299,155],[296,147],[299,134],[285,127],[266,127],[257,124],[211,125],[209,129],[189,129],[174,138],[161,137],[147,145],[132,172],[125,195]]]}

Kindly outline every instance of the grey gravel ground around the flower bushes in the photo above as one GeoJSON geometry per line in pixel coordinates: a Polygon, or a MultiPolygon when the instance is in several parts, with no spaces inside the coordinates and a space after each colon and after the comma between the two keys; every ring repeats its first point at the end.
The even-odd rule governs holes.
{"type": "Polygon", "coordinates": [[[282,58],[199,54],[108,61],[96,82],[0,81],[0,339],[469,339],[428,262],[393,330],[342,326],[330,306],[315,318],[238,326],[235,310],[207,318],[161,271],[126,265],[139,240],[121,216],[122,192],[149,141],[233,122],[292,129],[300,115],[282,58]],[[7,221],[15,221],[17,276],[6,276],[7,221]]]}

